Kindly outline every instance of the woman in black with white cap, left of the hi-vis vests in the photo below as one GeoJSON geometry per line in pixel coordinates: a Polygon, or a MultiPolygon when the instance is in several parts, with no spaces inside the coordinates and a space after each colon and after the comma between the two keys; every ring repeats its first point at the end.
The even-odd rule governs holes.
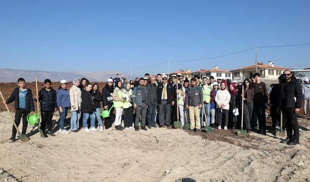
{"type": "Polygon", "coordinates": [[[106,129],[112,126],[112,123],[115,120],[115,115],[113,114],[114,107],[113,105],[113,80],[111,78],[108,79],[107,84],[102,89],[102,105],[104,109],[110,110],[109,117],[105,118],[105,127],[106,129]]]}

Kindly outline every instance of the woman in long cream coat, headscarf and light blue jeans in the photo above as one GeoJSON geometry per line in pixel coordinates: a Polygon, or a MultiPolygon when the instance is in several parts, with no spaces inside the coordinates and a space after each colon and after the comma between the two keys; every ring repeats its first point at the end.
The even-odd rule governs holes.
{"type": "Polygon", "coordinates": [[[79,118],[81,116],[81,90],[79,89],[80,81],[74,79],[73,85],[69,90],[70,93],[70,104],[71,104],[71,132],[78,132],[79,118]]]}

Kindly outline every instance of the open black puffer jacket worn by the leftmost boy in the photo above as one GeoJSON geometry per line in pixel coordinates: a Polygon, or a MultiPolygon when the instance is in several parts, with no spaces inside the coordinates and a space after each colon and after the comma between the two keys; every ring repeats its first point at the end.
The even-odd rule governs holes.
{"type": "MultiPolygon", "coordinates": [[[[9,99],[6,100],[6,103],[9,104],[11,102],[15,101],[14,108],[19,109],[19,87],[15,88],[9,97],[9,99]]],[[[27,94],[26,94],[26,111],[34,111],[34,104],[33,104],[33,96],[31,89],[27,88],[27,94]]]]}

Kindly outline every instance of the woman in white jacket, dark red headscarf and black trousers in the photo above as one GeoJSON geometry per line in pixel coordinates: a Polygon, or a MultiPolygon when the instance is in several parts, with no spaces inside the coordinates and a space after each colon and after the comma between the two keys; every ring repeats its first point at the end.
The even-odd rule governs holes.
{"type": "Polygon", "coordinates": [[[215,101],[217,103],[217,129],[222,128],[222,120],[224,121],[224,130],[227,130],[228,125],[228,114],[229,114],[229,101],[231,99],[231,94],[226,89],[226,83],[220,83],[220,90],[217,91],[215,101]]]}

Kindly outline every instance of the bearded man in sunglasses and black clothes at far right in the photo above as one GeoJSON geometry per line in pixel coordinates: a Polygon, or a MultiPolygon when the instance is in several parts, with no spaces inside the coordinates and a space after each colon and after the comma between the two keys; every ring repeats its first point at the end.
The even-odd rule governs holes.
{"type": "Polygon", "coordinates": [[[299,126],[297,113],[301,107],[302,89],[300,83],[292,76],[290,70],[283,72],[284,80],[280,83],[279,108],[286,119],[287,138],[281,143],[288,145],[299,144],[299,126]]]}

